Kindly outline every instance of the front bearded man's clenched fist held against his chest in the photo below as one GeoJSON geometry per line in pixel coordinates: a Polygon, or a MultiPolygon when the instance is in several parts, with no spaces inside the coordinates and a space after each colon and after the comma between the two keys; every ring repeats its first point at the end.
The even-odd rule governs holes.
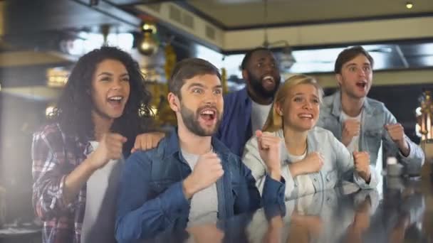
{"type": "Polygon", "coordinates": [[[188,199],[192,198],[192,195],[204,188],[208,188],[222,175],[224,175],[224,170],[218,155],[213,152],[204,153],[199,157],[191,175],[184,180],[185,196],[188,199]]]}

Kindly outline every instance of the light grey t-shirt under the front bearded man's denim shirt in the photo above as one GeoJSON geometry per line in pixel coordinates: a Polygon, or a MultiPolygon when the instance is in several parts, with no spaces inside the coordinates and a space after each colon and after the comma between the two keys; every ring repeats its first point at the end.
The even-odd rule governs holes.
{"type": "MultiPolygon", "coordinates": [[[[191,170],[194,170],[199,155],[187,153],[182,149],[182,156],[184,156],[191,170]]],[[[213,183],[208,188],[204,188],[192,196],[187,226],[214,223],[218,219],[217,215],[218,195],[216,194],[216,183],[213,183]]]]}

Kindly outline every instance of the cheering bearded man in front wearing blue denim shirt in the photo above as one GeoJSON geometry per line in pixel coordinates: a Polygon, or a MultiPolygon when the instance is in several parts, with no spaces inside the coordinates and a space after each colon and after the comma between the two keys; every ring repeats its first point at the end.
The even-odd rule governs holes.
{"type": "Polygon", "coordinates": [[[280,154],[279,146],[268,144],[262,154],[268,175],[260,198],[249,168],[212,138],[224,107],[214,65],[199,58],[177,63],[167,98],[177,129],[157,148],[128,158],[120,180],[118,242],[225,220],[262,205],[283,205],[285,181],[279,157],[273,156],[280,154]]]}

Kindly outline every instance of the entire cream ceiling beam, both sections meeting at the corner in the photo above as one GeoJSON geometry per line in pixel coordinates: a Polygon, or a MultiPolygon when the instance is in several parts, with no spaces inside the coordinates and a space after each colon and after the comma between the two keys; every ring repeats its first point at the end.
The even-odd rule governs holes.
{"type": "MultiPolygon", "coordinates": [[[[222,53],[249,50],[264,42],[264,29],[226,31],[203,19],[197,14],[180,8],[177,4],[162,3],[153,6],[138,5],[135,9],[157,18],[160,23],[180,30],[184,36],[199,40],[204,45],[214,46],[222,53]],[[178,19],[174,18],[173,12],[178,19]],[[182,16],[192,17],[192,27],[182,23],[182,16]],[[212,29],[214,38],[207,32],[212,29]]],[[[285,40],[295,48],[316,45],[350,45],[351,43],[380,43],[433,38],[433,16],[395,18],[383,20],[315,23],[302,26],[268,28],[269,42],[285,40]]]]}

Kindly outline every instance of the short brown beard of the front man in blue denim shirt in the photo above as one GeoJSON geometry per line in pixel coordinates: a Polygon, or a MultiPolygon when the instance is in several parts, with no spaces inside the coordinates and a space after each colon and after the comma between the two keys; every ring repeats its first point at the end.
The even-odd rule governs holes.
{"type": "Polygon", "coordinates": [[[221,124],[221,113],[214,106],[208,105],[204,107],[199,107],[199,109],[197,109],[197,111],[194,112],[191,109],[185,107],[184,104],[181,104],[180,115],[182,117],[182,120],[184,121],[185,126],[187,126],[187,129],[197,136],[212,136],[218,130],[219,124],[221,124]],[[210,130],[203,128],[199,122],[199,117],[202,110],[209,109],[209,108],[216,110],[215,113],[216,124],[214,128],[210,130]]]}

